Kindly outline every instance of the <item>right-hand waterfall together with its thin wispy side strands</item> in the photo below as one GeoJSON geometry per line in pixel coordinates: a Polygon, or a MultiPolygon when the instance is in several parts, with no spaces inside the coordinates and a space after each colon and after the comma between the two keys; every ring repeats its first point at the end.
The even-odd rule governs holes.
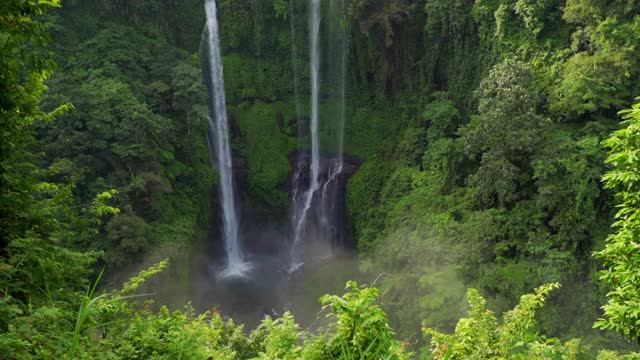
{"type": "MultiPolygon", "coordinates": [[[[291,11],[292,43],[296,44],[296,29],[294,26],[294,1],[291,11]]],[[[309,65],[310,65],[310,140],[311,154],[309,157],[302,153],[298,155],[298,164],[294,169],[293,176],[293,244],[291,247],[291,263],[289,272],[297,270],[310,256],[323,257],[331,254],[331,247],[338,243],[338,213],[336,204],[338,203],[339,177],[343,171],[343,143],[344,143],[344,120],[345,120],[345,68],[346,68],[346,31],[344,28],[344,0],[330,0],[328,8],[328,21],[326,23],[327,52],[326,52],[326,83],[330,86],[327,93],[330,94],[331,102],[335,111],[326,120],[334,120],[335,123],[329,125],[335,145],[335,155],[328,161],[321,164],[321,160],[327,156],[320,154],[320,33],[321,33],[321,0],[308,0],[309,14],[309,65]],[[305,170],[308,169],[308,182],[305,170]],[[304,187],[306,185],[306,188],[304,187]],[[304,189],[304,190],[303,190],[304,189]],[[308,228],[315,226],[315,233],[309,234],[308,228]],[[311,236],[310,236],[311,235],[311,236]],[[303,237],[305,239],[303,239],[303,237]],[[314,238],[316,242],[322,242],[326,246],[316,246],[314,254],[305,254],[308,237],[314,238]],[[327,250],[328,253],[327,253],[327,250]]],[[[293,49],[294,61],[296,60],[296,48],[293,49]]],[[[300,118],[300,108],[298,102],[297,77],[294,80],[296,88],[296,109],[300,118]]],[[[323,122],[325,119],[323,118],[323,122]]],[[[302,137],[302,134],[300,134],[302,137]]],[[[309,250],[307,250],[309,251],[309,250]]]]}

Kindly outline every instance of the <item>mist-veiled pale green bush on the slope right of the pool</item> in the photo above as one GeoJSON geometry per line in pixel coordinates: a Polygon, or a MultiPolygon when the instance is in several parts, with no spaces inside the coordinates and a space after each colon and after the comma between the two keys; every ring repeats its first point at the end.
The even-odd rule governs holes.
{"type": "Polygon", "coordinates": [[[375,246],[367,249],[362,268],[391,274],[380,282],[390,320],[402,338],[415,342],[421,321],[449,327],[460,315],[465,285],[456,262],[474,251],[475,244],[451,229],[453,211],[435,210],[442,206],[440,201],[460,203],[459,197],[438,198],[438,190],[425,186],[424,174],[415,169],[399,173],[409,175],[410,186],[378,210],[385,211],[381,216],[386,223],[373,236],[375,246]]]}

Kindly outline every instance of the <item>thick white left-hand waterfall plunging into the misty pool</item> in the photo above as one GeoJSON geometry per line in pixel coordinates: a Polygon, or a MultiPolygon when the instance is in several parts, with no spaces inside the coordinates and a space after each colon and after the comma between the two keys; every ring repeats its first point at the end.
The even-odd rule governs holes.
{"type": "Polygon", "coordinates": [[[223,237],[227,261],[222,276],[242,276],[249,270],[240,246],[238,216],[233,186],[233,163],[229,145],[229,124],[224,91],[222,56],[218,34],[218,18],[215,0],[205,3],[209,49],[209,149],[216,154],[220,173],[220,198],[223,214],[223,237]]]}

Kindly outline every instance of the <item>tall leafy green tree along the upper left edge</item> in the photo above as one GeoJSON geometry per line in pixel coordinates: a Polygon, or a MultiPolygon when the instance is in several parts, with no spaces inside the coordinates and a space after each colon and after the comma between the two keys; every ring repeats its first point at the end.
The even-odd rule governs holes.
{"type": "MultiPolygon", "coordinates": [[[[35,181],[33,143],[35,119],[52,117],[38,103],[45,89],[44,80],[54,64],[41,53],[26,50],[46,44],[47,26],[32,19],[45,14],[58,1],[25,3],[3,1],[0,4],[0,238],[3,245],[25,224],[17,209],[30,201],[35,181]]],[[[63,110],[63,109],[59,109],[63,110]]],[[[55,113],[55,112],[54,112],[55,113]]],[[[4,246],[3,246],[4,247],[4,246]]]]}

